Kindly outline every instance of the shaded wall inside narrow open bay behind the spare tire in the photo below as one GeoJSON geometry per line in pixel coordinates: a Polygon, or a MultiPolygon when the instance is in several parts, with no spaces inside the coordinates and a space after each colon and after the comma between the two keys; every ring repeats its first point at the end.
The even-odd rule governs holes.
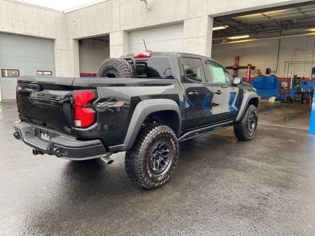
{"type": "Polygon", "coordinates": [[[109,42],[82,39],[79,44],[80,73],[97,73],[99,65],[109,58],[109,42]]]}

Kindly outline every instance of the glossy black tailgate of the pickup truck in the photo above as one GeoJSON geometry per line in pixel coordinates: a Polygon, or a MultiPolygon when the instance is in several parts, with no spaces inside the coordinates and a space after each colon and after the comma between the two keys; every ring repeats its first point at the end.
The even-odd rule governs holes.
{"type": "Polygon", "coordinates": [[[17,107],[21,120],[70,133],[73,78],[20,77],[17,107]]]}

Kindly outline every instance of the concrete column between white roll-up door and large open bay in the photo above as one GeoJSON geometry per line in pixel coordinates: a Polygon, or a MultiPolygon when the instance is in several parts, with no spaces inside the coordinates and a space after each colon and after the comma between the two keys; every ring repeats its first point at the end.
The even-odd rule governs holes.
{"type": "Polygon", "coordinates": [[[211,57],[213,17],[184,20],[183,51],[211,57]]]}

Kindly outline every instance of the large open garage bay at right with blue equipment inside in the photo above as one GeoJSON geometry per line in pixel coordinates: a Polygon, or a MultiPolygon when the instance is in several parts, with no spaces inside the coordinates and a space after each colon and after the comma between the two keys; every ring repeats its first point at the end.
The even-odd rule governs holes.
{"type": "Polygon", "coordinates": [[[265,123],[308,125],[315,87],[314,19],[314,1],[214,17],[212,57],[257,89],[266,101],[260,103],[265,123]],[[269,105],[272,96],[276,103],[269,105]]]}

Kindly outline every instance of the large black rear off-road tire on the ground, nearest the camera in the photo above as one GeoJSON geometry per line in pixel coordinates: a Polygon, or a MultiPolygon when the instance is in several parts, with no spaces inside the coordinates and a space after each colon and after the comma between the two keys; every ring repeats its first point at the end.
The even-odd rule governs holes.
{"type": "Polygon", "coordinates": [[[144,188],[157,188],[166,183],[173,174],[179,154],[177,137],[166,125],[148,125],[140,130],[133,147],[126,151],[125,167],[128,177],[144,188]],[[167,168],[160,174],[151,167],[152,149],[158,142],[169,145],[170,161],[167,168]]]}

